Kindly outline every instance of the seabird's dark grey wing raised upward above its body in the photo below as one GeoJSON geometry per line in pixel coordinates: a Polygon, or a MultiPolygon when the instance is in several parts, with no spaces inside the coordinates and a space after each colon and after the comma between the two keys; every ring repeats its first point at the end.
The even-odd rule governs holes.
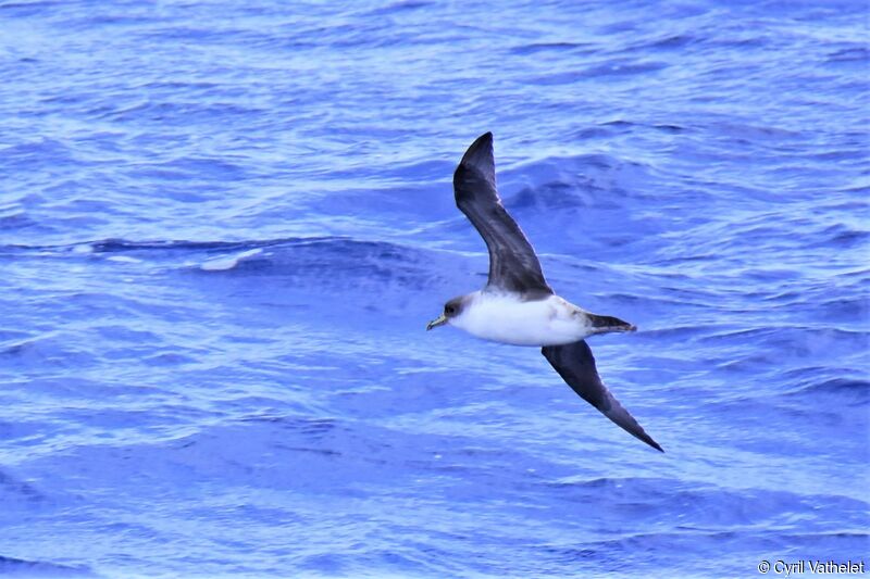
{"type": "Polygon", "coordinates": [[[550,295],[535,250],[517,222],[501,206],[496,190],[493,134],[477,137],[453,173],[456,205],[471,221],[489,250],[487,288],[515,291],[526,298],[550,295]]]}

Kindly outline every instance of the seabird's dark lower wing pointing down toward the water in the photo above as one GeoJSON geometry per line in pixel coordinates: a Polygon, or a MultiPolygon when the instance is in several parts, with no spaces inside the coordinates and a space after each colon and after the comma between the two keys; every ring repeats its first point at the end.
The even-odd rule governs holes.
{"type": "Polygon", "coordinates": [[[664,452],[601,382],[589,344],[581,340],[566,345],[545,345],[540,349],[540,353],[583,400],[598,408],[601,414],[617,423],[630,435],[637,437],[657,451],[664,452]]]}

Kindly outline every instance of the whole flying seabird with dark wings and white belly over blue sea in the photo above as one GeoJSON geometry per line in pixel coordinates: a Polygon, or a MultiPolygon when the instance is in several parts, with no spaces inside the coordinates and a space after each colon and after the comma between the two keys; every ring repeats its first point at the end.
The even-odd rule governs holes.
{"type": "Polygon", "coordinates": [[[480,136],[465,151],[453,173],[453,192],[459,211],[489,250],[489,277],[482,290],[448,301],[426,329],[449,324],[484,340],[542,347],[547,362],[583,400],[664,452],[605,387],[585,341],[596,333],[636,328],[577,307],[547,285],[535,250],[498,197],[492,133],[480,136]]]}

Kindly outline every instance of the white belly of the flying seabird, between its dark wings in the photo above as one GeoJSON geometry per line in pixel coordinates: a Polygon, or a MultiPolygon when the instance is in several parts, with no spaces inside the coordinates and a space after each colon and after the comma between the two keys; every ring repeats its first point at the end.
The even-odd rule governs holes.
{"type": "Polygon", "coordinates": [[[520,302],[481,292],[450,324],[477,338],[513,345],[561,345],[592,333],[583,311],[558,295],[520,302]]]}

